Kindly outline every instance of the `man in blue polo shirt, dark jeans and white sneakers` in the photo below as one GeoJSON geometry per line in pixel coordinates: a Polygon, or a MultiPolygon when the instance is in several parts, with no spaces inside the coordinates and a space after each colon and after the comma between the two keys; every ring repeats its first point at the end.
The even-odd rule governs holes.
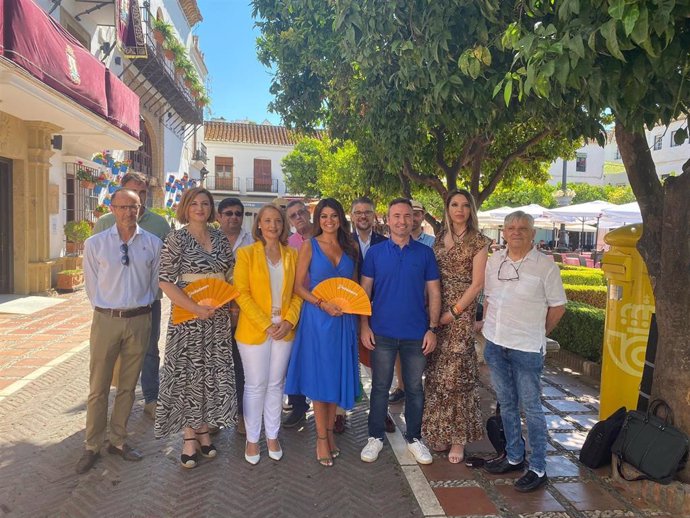
{"type": "Polygon", "coordinates": [[[374,462],[383,448],[388,391],[395,357],[400,354],[405,383],[407,448],[420,464],[432,457],[421,441],[426,355],[436,347],[441,312],[441,283],[434,252],[411,239],[412,204],[396,198],[388,206],[390,239],[372,246],[364,259],[361,285],[372,299],[372,316],[361,318],[361,340],[371,350],[369,440],[361,453],[374,462]],[[428,293],[429,313],[424,293],[428,293]]]}

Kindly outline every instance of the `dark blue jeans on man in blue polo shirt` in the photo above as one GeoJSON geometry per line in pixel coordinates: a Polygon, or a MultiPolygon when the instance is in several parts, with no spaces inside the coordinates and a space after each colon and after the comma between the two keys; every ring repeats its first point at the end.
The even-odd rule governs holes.
{"type": "Polygon", "coordinates": [[[383,439],[388,415],[388,391],[393,381],[395,357],[400,354],[405,383],[405,436],[408,442],[422,438],[424,390],[422,374],[426,356],[421,340],[398,340],[375,335],[376,348],[371,351],[371,399],[369,402],[369,437],[383,439]]]}

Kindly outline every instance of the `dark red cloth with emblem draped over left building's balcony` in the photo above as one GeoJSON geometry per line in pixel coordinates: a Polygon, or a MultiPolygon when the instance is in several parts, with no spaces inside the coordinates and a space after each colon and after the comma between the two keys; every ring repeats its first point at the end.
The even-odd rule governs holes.
{"type": "Polygon", "coordinates": [[[31,75],[126,131],[139,137],[139,97],[119,79],[110,83],[108,69],[33,0],[0,0],[4,56],[31,75]],[[127,104],[126,109],[122,106],[127,104]],[[134,113],[136,112],[136,113],[134,113]],[[135,122],[133,122],[135,119],[135,122]]]}

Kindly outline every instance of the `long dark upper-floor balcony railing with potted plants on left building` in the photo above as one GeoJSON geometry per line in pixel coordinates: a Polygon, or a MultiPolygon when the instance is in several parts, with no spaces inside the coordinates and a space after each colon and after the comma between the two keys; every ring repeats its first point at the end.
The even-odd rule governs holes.
{"type": "Polygon", "coordinates": [[[155,111],[160,111],[160,97],[162,96],[184,123],[202,124],[202,108],[196,105],[196,101],[185,85],[182,76],[175,73],[173,62],[164,56],[163,47],[153,39],[151,29],[153,15],[148,8],[142,9],[142,13],[142,26],[145,32],[148,57],[131,60],[132,65],[138,70],[134,81],[143,77],[150,83],[148,89],[142,88],[141,85],[135,88],[135,92],[141,97],[142,105],[148,109],[153,110],[155,108],[155,111]]]}

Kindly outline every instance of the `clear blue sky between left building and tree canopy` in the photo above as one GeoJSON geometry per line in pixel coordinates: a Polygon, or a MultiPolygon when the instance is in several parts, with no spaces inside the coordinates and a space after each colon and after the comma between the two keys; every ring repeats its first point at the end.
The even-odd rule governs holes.
{"type": "Polygon", "coordinates": [[[280,124],[280,117],[268,111],[271,74],[256,57],[259,31],[249,0],[198,0],[197,5],[204,20],[194,33],[209,71],[211,115],[280,124]]]}

